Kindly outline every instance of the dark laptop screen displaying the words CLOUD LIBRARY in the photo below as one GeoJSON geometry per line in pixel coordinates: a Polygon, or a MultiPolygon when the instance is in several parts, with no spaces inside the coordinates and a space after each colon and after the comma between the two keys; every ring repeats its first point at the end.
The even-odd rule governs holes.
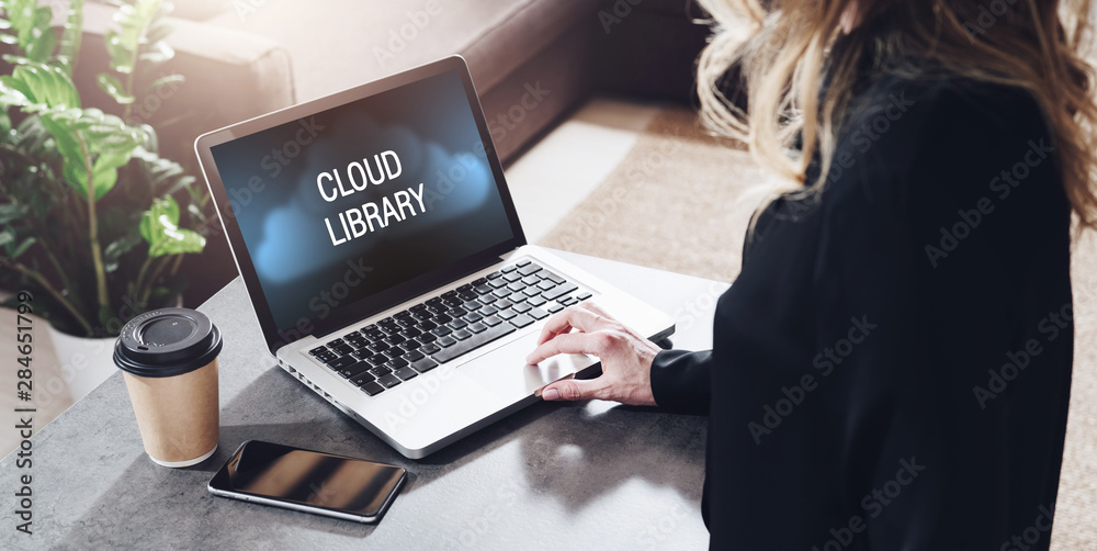
{"type": "Polygon", "coordinates": [[[342,308],[407,300],[381,297],[516,237],[463,71],[210,148],[231,206],[218,203],[223,216],[284,341],[342,308]]]}

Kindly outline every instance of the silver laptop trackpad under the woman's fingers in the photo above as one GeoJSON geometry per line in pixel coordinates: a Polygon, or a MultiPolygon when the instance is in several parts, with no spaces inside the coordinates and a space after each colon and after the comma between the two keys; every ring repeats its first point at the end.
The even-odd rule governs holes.
{"type": "Polygon", "coordinates": [[[527,364],[525,357],[536,348],[536,342],[538,334],[532,333],[459,367],[457,371],[512,402],[598,362],[597,359],[573,353],[550,358],[539,366],[527,364]]]}

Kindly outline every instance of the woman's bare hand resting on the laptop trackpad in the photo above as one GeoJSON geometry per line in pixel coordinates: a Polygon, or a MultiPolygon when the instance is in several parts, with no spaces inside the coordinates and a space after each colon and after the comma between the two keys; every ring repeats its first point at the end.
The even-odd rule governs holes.
{"type": "Polygon", "coordinates": [[[602,361],[600,376],[556,381],[541,391],[544,400],[598,398],[654,406],[652,361],[658,352],[659,347],[598,306],[579,303],[548,318],[538,348],[525,361],[536,364],[558,353],[589,353],[602,361]]]}

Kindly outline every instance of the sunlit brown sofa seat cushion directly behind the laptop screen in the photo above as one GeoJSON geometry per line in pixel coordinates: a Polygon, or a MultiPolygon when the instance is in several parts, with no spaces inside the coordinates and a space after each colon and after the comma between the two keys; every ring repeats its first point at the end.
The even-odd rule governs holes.
{"type": "Polygon", "coordinates": [[[588,0],[267,0],[210,22],[279,41],[292,53],[301,100],[453,54],[486,92],[584,18],[588,0]]]}

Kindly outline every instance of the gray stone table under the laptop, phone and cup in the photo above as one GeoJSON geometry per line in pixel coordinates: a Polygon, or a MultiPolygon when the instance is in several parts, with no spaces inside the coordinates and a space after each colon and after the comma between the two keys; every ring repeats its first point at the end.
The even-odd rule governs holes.
{"type": "MultiPolygon", "coordinates": [[[[562,256],[671,314],[677,347],[708,348],[726,284],[562,256]]],[[[703,549],[706,420],[607,402],[536,403],[423,460],[408,460],[276,367],[237,279],[201,306],[222,328],[220,445],[165,469],[144,453],[121,373],[33,438],[33,465],[0,462],[0,549],[703,549]],[[206,492],[247,439],[405,466],[377,525],[206,492]],[[15,530],[32,474],[32,536],[15,530]]],[[[9,368],[4,368],[9,369],[9,368]]],[[[12,430],[11,427],[4,430],[12,430]]]]}

